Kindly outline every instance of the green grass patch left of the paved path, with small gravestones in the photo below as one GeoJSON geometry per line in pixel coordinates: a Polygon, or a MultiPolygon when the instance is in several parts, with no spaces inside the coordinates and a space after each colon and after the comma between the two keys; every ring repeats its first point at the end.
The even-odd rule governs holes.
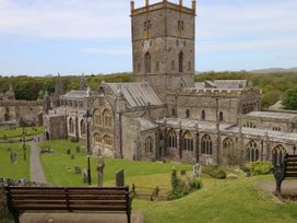
{"type": "Polygon", "coordinates": [[[26,161],[24,161],[23,146],[17,144],[0,144],[0,177],[29,179],[29,145],[26,145],[26,161]],[[10,152],[8,148],[12,149],[12,152],[17,154],[17,162],[10,162],[10,152]]]}

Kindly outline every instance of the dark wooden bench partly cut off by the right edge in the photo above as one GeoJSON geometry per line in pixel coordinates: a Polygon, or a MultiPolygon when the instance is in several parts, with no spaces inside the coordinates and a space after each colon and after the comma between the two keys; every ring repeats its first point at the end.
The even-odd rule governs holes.
{"type": "Polygon", "coordinates": [[[282,195],[282,183],[286,178],[297,178],[297,155],[286,154],[280,165],[274,165],[273,174],[276,181],[276,195],[282,195]]]}

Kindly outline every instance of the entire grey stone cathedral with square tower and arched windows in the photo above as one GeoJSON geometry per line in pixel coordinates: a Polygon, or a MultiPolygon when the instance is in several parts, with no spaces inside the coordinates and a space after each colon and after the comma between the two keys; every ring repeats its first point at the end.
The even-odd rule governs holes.
{"type": "Polygon", "coordinates": [[[263,111],[246,80],[194,82],[194,0],[130,4],[133,82],[90,91],[82,80],[64,93],[58,77],[44,98],[46,140],[87,141],[94,156],[218,165],[295,153],[296,113],[263,111]]]}

